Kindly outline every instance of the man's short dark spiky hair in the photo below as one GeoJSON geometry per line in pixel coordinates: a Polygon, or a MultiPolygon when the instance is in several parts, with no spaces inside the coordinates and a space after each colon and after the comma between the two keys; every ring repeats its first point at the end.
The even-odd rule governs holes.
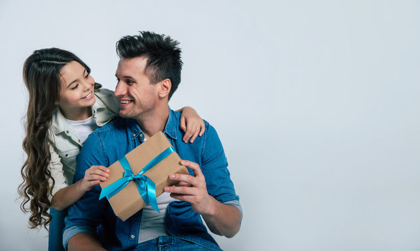
{"type": "Polygon", "coordinates": [[[139,36],[125,36],[118,40],[116,51],[123,59],[146,56],[148,60],[144,74],[150,84],[157,84],[164,79],[171,80],[170,99],[181,82],[182,61],[178,45],[178,41],[169,36],[140,31],[139,36]]]}

